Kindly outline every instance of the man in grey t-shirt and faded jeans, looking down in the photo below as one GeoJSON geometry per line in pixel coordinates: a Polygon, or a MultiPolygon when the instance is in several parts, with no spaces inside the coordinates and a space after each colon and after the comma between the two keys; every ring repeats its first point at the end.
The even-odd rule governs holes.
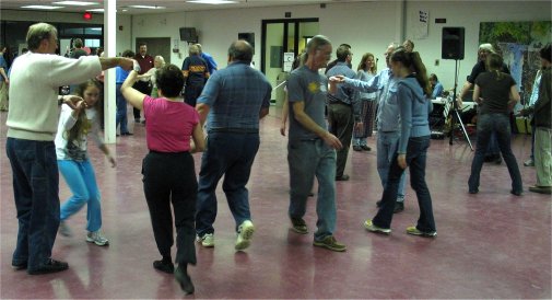
{"type": "Polygon", "coordinates": [[[290,166],[290,219],[292,230],[306,234],[308,194],[316,175],[318,180],[318,216],[314,245],[331,251],[345,251],[347,246],[336,241],[336,149],[343,146],[328,132],[324,111],[328,82],[318,70],[325,68],[331,57],[331,44],[317,35],[307,44],[305,66],[293,71],[287,80],[290,101],[290,134],[287,163],[290,166]]]}

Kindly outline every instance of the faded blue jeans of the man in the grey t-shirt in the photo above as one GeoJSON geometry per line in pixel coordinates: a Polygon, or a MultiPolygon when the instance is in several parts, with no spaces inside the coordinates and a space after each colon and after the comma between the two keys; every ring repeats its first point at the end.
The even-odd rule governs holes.
{"type": "Polygon", "coordinates": [[[291,218],[303,218],[306,212],[307,197],[316,176],[318,198],[316,215],[318,221],[315,240],[324,240],[336,230],[336,150],[324,140],[298,140],[287,143],[287,163],[290,165],[290,209],[291,218]]]}

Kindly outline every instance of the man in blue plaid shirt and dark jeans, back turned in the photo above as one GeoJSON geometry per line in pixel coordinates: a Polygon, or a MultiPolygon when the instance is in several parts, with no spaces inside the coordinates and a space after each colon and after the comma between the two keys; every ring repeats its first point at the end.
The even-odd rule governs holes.
{"type": "Polygon", "coordinates": [[[214,246],[215,189],[222,175],[238,233],[235,249],[248,247],[255,231],[245,186],[259,149],[259,119],[269,113],[272,86],[261,72],[249,67],[251,59],[249,43],[232,43],[228,67],[207,81],[196,105],[201,124],[207,118],[209,135],[201,158],[196,215],[197,240],[203,246],[214,246]]]}

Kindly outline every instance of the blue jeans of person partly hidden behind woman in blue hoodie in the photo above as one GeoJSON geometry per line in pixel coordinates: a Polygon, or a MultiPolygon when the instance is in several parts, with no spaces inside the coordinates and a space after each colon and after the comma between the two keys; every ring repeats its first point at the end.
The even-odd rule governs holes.
{"type": "MultiPolygon", "coordinates": [[[[384,132],[378,131],[377,134],[377,173],[379,174],[379,180],[381,181],[381,186],[385,188],[387,184],[387,174],[389,173],[389,166],[391,165],[392,158],[397,148],[399,147],[400,132],[391,131],[384,132]]],[[[404,200],[404,186],[407,185],[407,174],[400,177],[399,192],[397,194],[397,200],[404,200]]]]}

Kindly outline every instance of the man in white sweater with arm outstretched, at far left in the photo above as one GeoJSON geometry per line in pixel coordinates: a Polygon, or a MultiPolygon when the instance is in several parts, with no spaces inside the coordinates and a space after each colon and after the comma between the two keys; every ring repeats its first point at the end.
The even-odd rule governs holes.
{"type": "Polygon", "coordinates": [[[54,138],[58,101],[72,104],[82,99],[59,97],[58,89],[83,82],[116,66],[132,69],[132,60],[57,56],[57,30],[46,23],[28,27],[26,41],[30,51],[20,56],[11,69],[5,150],[13,173],[19,220],[12,267],[27,269],[28,274],[35,275],[68,268],[67,263],[50,257],[60,218],[54,138]]]}

